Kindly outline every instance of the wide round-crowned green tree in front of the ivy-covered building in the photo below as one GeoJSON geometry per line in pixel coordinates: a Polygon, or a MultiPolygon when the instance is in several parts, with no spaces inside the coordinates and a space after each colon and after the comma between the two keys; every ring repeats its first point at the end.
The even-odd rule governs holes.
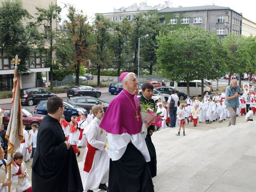
{"type": "Polygon", "coordinates": [[[160,75],[173,81],[186,81],[188,95],[189,81],[217,76],[213,64],[220,66],[222,59],[218,58],[220,42],[212,32],[199,27],[183,28],[168,35],[160,34],[157,42],[160,75]]]}

